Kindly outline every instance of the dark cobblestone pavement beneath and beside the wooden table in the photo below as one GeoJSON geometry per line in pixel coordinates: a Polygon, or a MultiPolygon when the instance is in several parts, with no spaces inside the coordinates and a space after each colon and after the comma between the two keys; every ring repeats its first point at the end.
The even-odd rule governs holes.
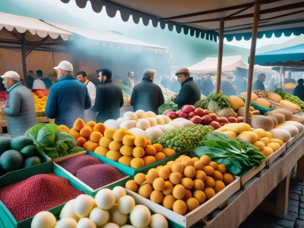
{"type": "Polygon", "coordinates": [[[288,214],[284,219],[254,210],[239,228],[304,228],[304,183],[295,181],[295,169],[289,185],[288,214]]]}

